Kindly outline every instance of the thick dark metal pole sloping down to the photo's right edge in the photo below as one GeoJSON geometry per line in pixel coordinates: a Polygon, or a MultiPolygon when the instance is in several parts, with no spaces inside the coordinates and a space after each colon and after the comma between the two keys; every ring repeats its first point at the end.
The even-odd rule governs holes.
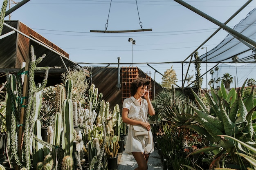
{"type": "MultiPolygon", "coordinates": [[[[182,0],[174,0],[176,2],[178,2],[179,4],[182,4],[184,7],[190,9],[191,11],[197,13],[198,15],[204,17],[205,19],[213,22],[214,24],[220,26],[222,29],[224,29],[225,31],[227,31],[228,33],[235,35],[236,38],[240,41],[243,40],[243,42],[247,42],[248,44],[251,44],[253,46],[253,51],[256,50],[256,42],[251,40],[250,38],[246,37],[245,35],[235,31],[234,29],[231,29],[229,26],[223,24],[222,22],[212,18],[211,16],[207,15],[206,13],[203,13],[202,11],[196,9],[195,7],[191,6],[190,4],[187,4],[186,2],[182,1],[182,0]]],[[[251,46],[249,46],[249,48],[251,48],[251,46]]]]}

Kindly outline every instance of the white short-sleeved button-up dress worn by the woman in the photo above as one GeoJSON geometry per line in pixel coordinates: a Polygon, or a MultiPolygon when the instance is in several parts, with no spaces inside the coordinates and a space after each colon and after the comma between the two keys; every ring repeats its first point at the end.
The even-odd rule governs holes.
{"type": "MultiPolygon", "coordinates": [[[[146,99],[141,98],[141,104],[139,104],[133,96],[124,99],[123,108],[127,108],[129,110],[128,118],[139,121],[148,121],[148,103],[146,99]]],[[[149,135],[135,137],[133,126],[128,125],[128,127],[126,148],[124,152],[143,152],[145,154],[154,152],[154,142],[151,131],[149,131],[149,135]]]]}

